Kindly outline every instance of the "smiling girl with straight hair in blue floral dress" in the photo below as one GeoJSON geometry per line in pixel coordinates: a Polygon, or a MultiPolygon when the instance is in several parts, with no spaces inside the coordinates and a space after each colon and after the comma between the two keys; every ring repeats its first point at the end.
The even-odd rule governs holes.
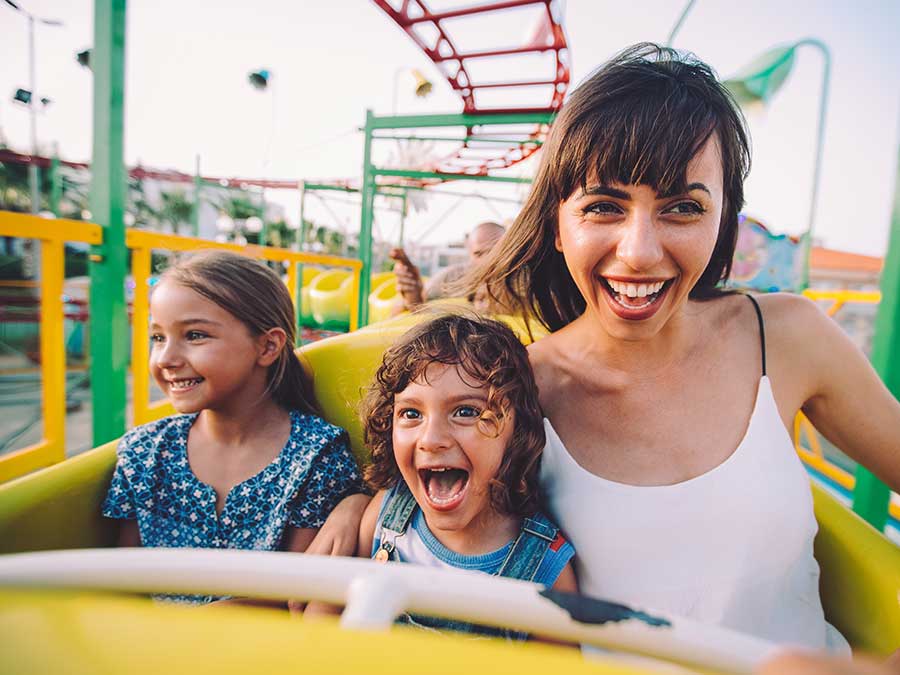
{"type": "Polygon", "coordinates": [[[103,515],[120,545],[306,550],[360,476],[308,397],[285,285],[201,253],[162,275],[150,314],[150,371],[179,414],[119,443],[103,515]]]}

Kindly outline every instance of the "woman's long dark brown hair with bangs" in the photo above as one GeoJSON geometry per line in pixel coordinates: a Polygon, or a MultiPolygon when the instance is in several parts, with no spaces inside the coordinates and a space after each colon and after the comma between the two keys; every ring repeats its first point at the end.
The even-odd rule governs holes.
{"type": "Polygon", "coordinates": [[[528,200],[468,280],[470,288],[485,284],[495,300],[538,317],[550,330],[573,321],[585,301],[554,245],[560,203],[588,179],[683,192],[689,162],[713,136],[722,157],[722,221],[690,297],[718,297],[719,284],[731,274],[750,170],[746,123],[709,66],[650,43],[601,66],[563,106],[528,200]]]}

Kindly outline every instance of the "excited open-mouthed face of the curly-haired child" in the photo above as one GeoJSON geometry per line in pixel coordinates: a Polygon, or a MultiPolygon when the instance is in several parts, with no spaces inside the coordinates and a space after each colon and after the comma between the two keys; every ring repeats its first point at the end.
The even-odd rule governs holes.
{"type": "MultiPolygon", "coordinates": [[[[394,399],[392,444],[404,481],[429,529],[444,545],[484,541],[497,531],[490,486],[503,461],[515,421],[489,421],[487,391],[456,366],[433,363],[394,399]]],[[[499,539],[508,539],[500,527],[499,539]]],[[[490,548],[488,549],[490,550],[490,548]]]]}

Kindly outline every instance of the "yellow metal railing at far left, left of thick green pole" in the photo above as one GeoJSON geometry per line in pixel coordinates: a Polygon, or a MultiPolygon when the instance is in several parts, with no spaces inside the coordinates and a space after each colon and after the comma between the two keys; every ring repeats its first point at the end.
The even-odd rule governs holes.
{"type": "Polygon", "coordinates": [[[103,229],[78,220],[47,220],[0,211],[0,236],[37,239],[40,255],[40,354],[43,434],[39,443],[0,456],[0,482],[66,457],[66,346],[63,336],[65,242],[99,244],[103,229]]]}

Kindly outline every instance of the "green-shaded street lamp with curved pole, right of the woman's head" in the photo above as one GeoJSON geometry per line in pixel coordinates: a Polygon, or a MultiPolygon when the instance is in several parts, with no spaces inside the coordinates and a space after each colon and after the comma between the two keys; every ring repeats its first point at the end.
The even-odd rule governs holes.
{"type": "Polygon", "coordinates": [[[801,285],[809,282],[809,253],[812,248],[813,226],[816,220],[816,202],[819,196],[819,178],[822,171],[822,148],[825,141],[825,113],[828,109],[828,85],[831,78],[831,52],[821,40],[806,38],[789,45],[780,45],[764,52],[741,69],[724,84],[740,104],[767,103],[784,84],[800,47],[814,47],[822,54],[822,90],[819,99],[819,121],[816,129],[816,156],[813,165],[812,196],[809,205],[809,222],[806,231],[806,250],[801,285]]]}

